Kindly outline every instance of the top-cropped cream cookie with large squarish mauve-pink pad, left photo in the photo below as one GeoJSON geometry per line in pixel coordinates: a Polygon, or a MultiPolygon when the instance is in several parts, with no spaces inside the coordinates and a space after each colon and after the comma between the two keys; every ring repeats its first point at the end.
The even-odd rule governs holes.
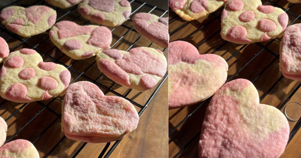
{"type": "Polygon", "coordinates": [[[86,0],[78,5],[78,11],[94,23],[115,27],[129,19],[132,7],[127,0],[86,0]]]}

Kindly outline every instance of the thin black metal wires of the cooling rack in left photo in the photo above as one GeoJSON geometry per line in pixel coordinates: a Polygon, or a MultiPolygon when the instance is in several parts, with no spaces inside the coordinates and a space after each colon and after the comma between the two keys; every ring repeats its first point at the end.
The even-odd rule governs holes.
{"type": "MultiPolygon", "coordinates": [[[[9,3],[8,5],[5,5],[4,7],[0,8],[0,11],[8,6],[11,6],[11,5],[15,5],[17,4],[18,2],[21,2],[22,0],[15,0],[11,3],[9,3]]],[[[51,8],[54,8],[56,11],[57,10],[60,10],[60,8],[57,8],[57,7],[54,7],[54,6],[51,6],[51,5],[48,5],[47,3],[45,3],[43,0],[37,0],[35,2],[33,2],[32,4],[30,5],[37,5],[38,3],[42,3],[42,5],[47,5],[48,7],[51,7],[51,8]]],[[[139,0],[131,0],[130,1],[131,4],[136,4],[136,5],[139,5],[138,8],[136,8],[134,11],[132,11],[132,14],[135,14],[136,12],[138,12],[138,10],[141,8],[141,7],[147,7],[149,9],[151,9],[149,11],[149,13],[151,13],[152,11],[156,10],[156,11],[159,11],[161,14],[160,17],[163,17],[164,15],[166,15],[168,13],[168,10],[163,10],[163,9],[160,9],[160,8],[157,8],[157,6],[152,6],[152,5],[149,5],[147,3],[144,3],[144,2],[141,2],[139,0]]],[[[28,7],[30,5],[24,5],[23,7],[28,7]]],[[[69,9],[69,11],[67,11],[66,13],[64,13],[63,15],[57,17],[57,21],[61,20],[63,17],[67,16],[68,14],[70,14],[73,10],[76,10],[77,8],[77,5],[76,6],[73,6],[69,9]]],[[[78,19],[80,17],[77,16],[75,18],[73,18],[72,21],[78,19]]],[[[131,20],[128,20],[131,22],[131,20]]],[[[89,21],[86,20],[86,22],[84,24],[87,24],[89,21]]],[[[114,42],[111,47],[114,48],[114,46],[120,42],[129,32],[131,31],[134,31],[137,33],[137,31],[133,28],[133,27],[129,27],[129,26],[126,26],[124,24],[122,24],[121,26],[117,26],[117,27],[124,27],[126,29],[128,29],[122,36],[119,37],[119,39],[114,42]]],[[[114,27],[113,29],[111,29],[111,31],[115,30],[117,27],[114,27]]],[[[57,64],[61,64],[63,66],[65,66],[71,73],[75,73],[77,76],[73,79],[73,82],[76,82],[80,77],[84,78],[85,80],[87,81],[90,81],[96,85],[98,85],[99,87],[105,89],[104,91],[104,94],[107,94],[108,92],[116,95],[116,96],[119,96],[119,97],[122,97],[122,98],[125,98],[126,100],[130,101],[133,105],[135,105],[136,107],[138,107],[140,110],[138,111],[138,115],[141,116],[141,114],[144,112],[144,110],[147,108],[147,106],[149,105],[149,103],[152,101],[152,99],[154,98],[154,96],[157,94],[159,88],[163,85],[163,82],[165,82],[165,80],[167,79],[168,77],[168,73],[165,74],[165,76],[163,77],[163,79],[158,83],[157,87],[154,88],[154,91],[151,93],[151,95],[149,96],[149,98],[147,99],[147,101],[145,102],[144,105],[141,105],[129,98],[127,98],[127,96],[129,95],[129,93],[132,91],[132,89],[129,89],[125,94],[120,94],[118,92],[116,92],[115,90],[113,90],[113,86],[116,85],[115,82],[113,82],[112,85],[110,85],[109,87],[103,85],[102,83],[100,83],[98,80],[103,76],[103,74],[101,73],[96,79],[92,79],[90,78],[89,76],[85,75],[84,73],[90,68],[92,67],[93,64],[95,64],[96,61],[94,61],[93,63],[91,63],[90,65],[88,65],[87,67],[85,67],[85,70],[83,70],[82,72],[79,72],[78,70],[72,68],[72,65],[74,65],[76,62],[79,62],[80,60],[74,60],[71,64],[69,65],[66,65],[64,63],[62,63],[60,61],[60,59],[62,59],[63,57],[66,57],[65,54],[62,54],[61,56],[59,56],[58,58],[55,58],[55,57],[52,57],[51,55],[49,55],[48,53],[55,48],[55,46],[53,46],[51,49],[49,49],[48,51],[42,51],[41,49],[37,48],[39,45],[41,45],[41,43],[49,40],[49,37],[46,38],[46,39],[43,39],[42,41],[39,41],[37,44],[35,45],[32,45],[30,44],[29,42],[27,42],[29,39],[32,39],[34,38],[35,36],[33,37],[28,37],[28,38],[22,38],[14,33],[12,33],[10,30],[6,29],[6,28],[2,28],[0,27],[0,33],[6,33],[9,35],[8,38],[6,38],[5,40],[8,41],[9,39],[11,38],[14,38],[14,39],[17,39],[20,43],[18,43],[17,45],[15,45],[14,47],[10,48],[10,52],[12,51],[16,51],[18,50],[17,48],[20,47],[20,45],[22,44],[26,44],[29,48],[31,49],[34,49],[36,50],[39,54],[41,54],[42,57],[47,57],[48,60],[52,60],[53,62],[57,63],[57,64]]],[[[126,51],[128,51],[129,49],[131,49],[137,42],[139,39],[141,39],[142,36],[139,35],[139,37],[132,43],[130,44],[130,46],[126,49],[126,51]]],[[[150,45],[148,45],[148,47],[150,47],[153,43],[151,43],[150,45]]],[[[167,53],[166,52],[166,48],[163,49],[163,53],[167,53]]],[[[45,60],[45,59],[44,59],[45,60]]],[[[70,83],[70,84],[71,84],[70,83]]],[[[52,98],[51,101],[49,101],[47,104],[43,103],[42,101],[37,101],[36,103],[39,104],[40,106],[42,106],[42,109],[39,110],[28,122],[26,122],[20,129],[17,130],[17,132],[15,132],[10,138],[8,138],[5,143],[11,141],[12,139],[14,139],[14,137],[16,135],[18,135],[27,125],[29,125],[30,122],[32,122],[37,116],[39,116],[40,113],[42,113],[42,111],[44,111],[45,109],[48,110],[49,112],[53,113],[56,118],[39,134],[36,136],[36,138],[32,141],[33,144],[36,143],[36,141],[39,140],[39,138],[45,133],[47,132],[48,129],[50,129],[50,127],[58,120],[58,119],[61,119],[61,114],[57,113],[55,110],[51,109],[49,107],[49,105],[51,105],[51,103],[53,103],[54,101],[56,100],[56,98],[52,98]]],[[[7,100],[4,100],[0,103],[0,107],[5,104],[7,102],[7,100]]],[[[27,105],[27,103],[23,104],[22,106],[20,106],[17,110],[15,110],[13,113],[11,113],[10,116],[8,116],[5,121],[7,122],[9,119],[11,119],[11,117],[13,117],[14,115],[16,115],[20,110],[22,110],[25,106],[27,105]]],[[[57,144],[45,155],[45,157],[48,157],[60,144],[61,142],[66,138],[66,136],[64,136],[63,138],[61,138],[61,140],[59,142],[57,142],[57,144]]],[[[118,140],[118,141],[115,141],[115,143],[110,147],[110,142],[107,143],[105,145],[105,147],[103,148],[103,150],[101,151],[100,155],[98,157],[109,157],[110,154],[115,150],[115,148],[117,147],[117,145],[120,143],[122,139],[118,140]],[[109,149],[110,147],[110,149],[109,149]]],[[[76,153],[72,156],[72,157],[76,157],[80,151],[85,147],[87,143],[83,143],[82,146],[76,151],[76,153]]]]}

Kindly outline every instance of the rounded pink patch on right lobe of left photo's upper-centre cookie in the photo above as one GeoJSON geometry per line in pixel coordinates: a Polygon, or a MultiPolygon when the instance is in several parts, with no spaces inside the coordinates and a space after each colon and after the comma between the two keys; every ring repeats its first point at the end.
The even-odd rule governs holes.
{"type": "Polygon", "coordinates": [[[87,44],[95,47],[108,49],[112,42],[111,30],[104,26],[99,26],[91,33],[91,37],[88,39],[87,44]]]}

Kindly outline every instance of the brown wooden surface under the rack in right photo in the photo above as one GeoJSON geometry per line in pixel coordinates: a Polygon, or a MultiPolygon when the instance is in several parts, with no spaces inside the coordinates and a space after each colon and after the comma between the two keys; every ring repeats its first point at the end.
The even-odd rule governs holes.
{"type": "MultiPolygon", "coordinates": [[[[288,9],[298,17],[288,14],[289,23],[301,22],[301,4],[294,4],[286,0],[263,0],[264,5],[279,5],[288,9]]],[[[284,110],[291,102],[301,102],[301,84],[299,81],[287,79],[279,71],[279,46],[281,37],[267,42],[238,45],[226,42],[220,36],[220,14],[222,9],[201,17],[198,20],[186,22],[169,9],[170,41],[185,40],[195,45],[200,54],[214,53],[222,56],[229,65],[228,79],[244,78],[253,82],[258,90],[260,103],[284,110]]],[[[185,92],[183,92],[185,93],[185,92]]],[[[198,140],[206,107],[210,98],[200,104],[169,110],[169,157],[198,157],[198,140]],[[193,114],[191,114],[193,113],[193,114]],[[186,119],[185,119],[186,118],[186,119]],[[182,124],[179,125],[179,123],[182,124]],[[178,128],[175,126],[178,125],[178,128]],[[175,128],[175,129],[174,129],[175,128]],[[174,130],[173,130],[174,129],[174,130]]],[[[301,106],[290,104],[287,115],[299,119],[301,106]]],[[[290,130],[297,122],[289,121],[290,130]]],[[[287,144],[281,157],[299,158],[300,130],[287,144]]]]}

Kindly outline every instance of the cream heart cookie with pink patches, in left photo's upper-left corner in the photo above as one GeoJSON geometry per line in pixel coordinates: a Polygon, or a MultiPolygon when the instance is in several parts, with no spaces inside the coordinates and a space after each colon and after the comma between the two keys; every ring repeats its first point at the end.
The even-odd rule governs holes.
{"type": "Polygon", "coordinates": [[[44,5],[28,8],[11,6],[0,13],[0,21],[5,27],[23,37],[45,32],[55,23],[56,11],[44,5]]]}

